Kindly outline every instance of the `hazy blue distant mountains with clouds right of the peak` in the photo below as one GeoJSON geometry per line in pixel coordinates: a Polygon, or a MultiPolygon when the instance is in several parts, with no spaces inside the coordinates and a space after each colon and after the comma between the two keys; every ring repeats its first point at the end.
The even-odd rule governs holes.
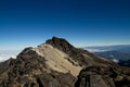
{"type": "Polygon", "coordinates": [[[86,47],[96,55],[113,60],[122,66],[130,66],[130,45],[86,47]]]}

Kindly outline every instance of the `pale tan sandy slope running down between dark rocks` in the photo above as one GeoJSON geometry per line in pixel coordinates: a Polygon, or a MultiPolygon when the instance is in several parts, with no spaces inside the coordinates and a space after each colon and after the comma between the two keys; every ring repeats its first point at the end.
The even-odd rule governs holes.
{"type": "Polygon", "coordinates": [[[47,60],[47,65],[57,72],[72,73],[72,75],[77,76],[82,67],[79,65],[74,65],[65,58],[69,58],[66,53],[53,48],[50,45],[43,44],[34,50],[40,55],[44,57],[47,60]]]}

